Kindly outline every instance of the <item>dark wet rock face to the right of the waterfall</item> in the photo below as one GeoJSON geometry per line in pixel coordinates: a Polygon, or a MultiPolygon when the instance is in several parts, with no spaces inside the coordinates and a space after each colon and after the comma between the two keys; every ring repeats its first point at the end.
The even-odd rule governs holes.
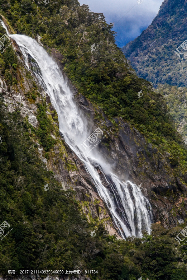
{"type": "MultiPolygon", "coordinates": [[[[81,98],[76,100],[85,112],[85,101],[83,103],[81,98]]],[[[187,217],[187,189],[186,184],[181,180],[187,183],[187,175],[181,174],[182,179],[172,175],[170,154],[168,152],[161,154],[154,144],[147,143],[136,128],[121,118],[114,118],[118,125],[116,131],[103,112],[95,109],[90,102],[86,112],[89,112],[88,119],[92,113],[94,127],[99,126],[103,129],[104,134],[107,134],[107,138],[98,145],[103,158],[113,164],[115,172],[121,179],[131,180],[137,185],[142,183],[142,192],[152,205],[153,222],[160,221],[165,228],[171,228],[184,222],[187,217]],[[101,118],[100,121],[94,119],[94,112],[100,113],[104,118],[101,118]],[[109,144],[108,148],[106,143],[109,144]],[[175,194],[175,198],[172,193],[175,194]]]]}

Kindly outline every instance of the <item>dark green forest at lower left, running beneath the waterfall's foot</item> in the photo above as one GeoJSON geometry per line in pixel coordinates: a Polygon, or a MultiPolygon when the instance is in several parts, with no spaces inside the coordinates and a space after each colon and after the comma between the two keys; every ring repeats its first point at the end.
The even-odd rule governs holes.
{"type": "MultiPolygon", "coordinates": [[[[39,106],[38,115],[44,111],[39,106]]],[[[47,133],[50,123],[45,127],[43,119],[47,133]]],[[[3,100],[0,124],[0,217],[13,228],[0,242],[1,275],[10,268],[79,268],[98,270],[91,279],[187,279],[187,245],[182,248],[174,239],[185,225],[166,230],[153,224],[151,236],[145,232],[143,239],[127,240],[116,240],[100,225],[92,238],[94,225],[79,214],[74,192],[61,190],[38,158],[29,129],[36,131],[19,110],[7,113],[3,100]]]]}

